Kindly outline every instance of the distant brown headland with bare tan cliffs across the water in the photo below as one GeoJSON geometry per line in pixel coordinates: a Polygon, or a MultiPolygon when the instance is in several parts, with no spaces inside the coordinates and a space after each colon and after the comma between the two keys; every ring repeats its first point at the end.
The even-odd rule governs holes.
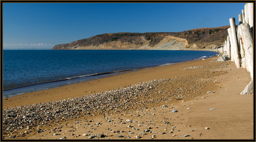
{"type": "Polygon", "coordinates": [[[58,44],[52,50],[214,50],[223,46],[228,28],[230,26],[183,32],[106,33],[67,44],[58,44]]]}

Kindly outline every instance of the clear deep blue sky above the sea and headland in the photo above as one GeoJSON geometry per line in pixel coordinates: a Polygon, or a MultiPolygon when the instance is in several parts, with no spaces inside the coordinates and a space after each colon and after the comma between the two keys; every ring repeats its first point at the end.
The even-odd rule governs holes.
{"type": "Polygon", "coordinates": [[[245,3],[3,3],[4,48],[52,48],[116,32],[229,25],[245,3]]]}

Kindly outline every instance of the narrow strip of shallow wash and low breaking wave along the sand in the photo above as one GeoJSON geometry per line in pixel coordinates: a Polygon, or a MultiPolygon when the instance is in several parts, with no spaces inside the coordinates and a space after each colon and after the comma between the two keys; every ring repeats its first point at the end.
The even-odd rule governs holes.
{"type": "MultiPolygon", "coordinates": [[[[200,57],[198,59],[193,59],[193,60],[189,60],[189,61],[206,59],[206,58],[209,58],[209,57],[200,57]]],[[[189,62],[189,61],[183,61],[183,62],[189,62]]],[[[41,83],[41,84],[23,86],[23,87],[18,87],[18,88],[13,88],[13,89],[6,89],[6,90],[3,90],[3,98],[9,98],[9,97],[13,97],[16,95],[22,95],[24,93],[42,91],[45,89],[52,89],[52,88],[56,88],[56,87],[60,87],[60,86],[63,87],[66,85],[72,85],[72,84],[76,84],[76,83],[98,80],[98,79],[105,78],[105,77],[116,76],[116,74],[125,74],[125,73],[144,70],[144,69],[148,69],[148,68],[179,64],[179,63],[183,63],[183,62],[167,63],[167,64],[161,64],[161,65],[156,65],[156,66],[142,67],[142,68],[137,68],[137,69],[126,69],[126,70],[121,70],[121,71],[103,72],[103,73],[96,73],[96,74],[90,74],[90,75],[81,75],[81,76],[77,76],[77,77],[69,77],[69,78],[64,78],[64,79],[41,83]]]]}

